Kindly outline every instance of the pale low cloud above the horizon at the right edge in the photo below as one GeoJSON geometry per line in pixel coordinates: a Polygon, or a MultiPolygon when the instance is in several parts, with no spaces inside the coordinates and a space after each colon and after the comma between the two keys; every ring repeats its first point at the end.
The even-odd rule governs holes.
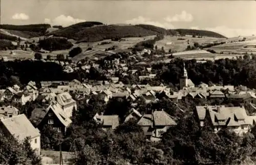
{"type": "MultiPolygon", "coordinates": [[[[191,27],[190,29],[195,29],[195,28],[198,28],[198,27],[191,27]]],[[[238,36],[251,36],[253,34],[256,35],[256,29],[232,29],[232,28],[228,28],[227,26],[216,26],[215,28],[202,28],[200,30],[216,32],[228,38],[238,37],[238,36]]]]}

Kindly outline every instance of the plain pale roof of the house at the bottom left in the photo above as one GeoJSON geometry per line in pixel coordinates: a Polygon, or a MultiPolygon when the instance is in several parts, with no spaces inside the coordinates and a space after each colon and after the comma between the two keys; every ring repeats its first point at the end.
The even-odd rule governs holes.
{"type": "Polygon", "coordinates": [[[23,141],[27,136],[31,138],[40,136],[39,130],[31,124],[24,114],[2,119],[1,122],[19,141],[23,141]]]}

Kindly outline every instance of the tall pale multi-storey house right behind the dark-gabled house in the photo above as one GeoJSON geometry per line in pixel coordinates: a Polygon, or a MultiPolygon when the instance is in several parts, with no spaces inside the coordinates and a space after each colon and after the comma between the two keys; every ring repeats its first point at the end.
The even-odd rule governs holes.
{"type": "Polygon", "coordinates": [[[71,117],[73,110],[77,109],[76,101],[68,92],[58,94],[56,100],[68,117],[71,117]]]}

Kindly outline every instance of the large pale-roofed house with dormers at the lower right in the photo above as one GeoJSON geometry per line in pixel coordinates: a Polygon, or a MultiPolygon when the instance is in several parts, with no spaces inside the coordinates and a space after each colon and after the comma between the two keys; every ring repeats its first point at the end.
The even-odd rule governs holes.
{"type": "Polygon", "coordinates": [[[221,128],[228,128],[238,135],[243,135],[251,127],[251,118],[247,116],[245,108],[240,106],[196,106],[195,115],[200,126],[203,126],[205,120],[208,119],[215,132],[218,132],[221,128]]]}

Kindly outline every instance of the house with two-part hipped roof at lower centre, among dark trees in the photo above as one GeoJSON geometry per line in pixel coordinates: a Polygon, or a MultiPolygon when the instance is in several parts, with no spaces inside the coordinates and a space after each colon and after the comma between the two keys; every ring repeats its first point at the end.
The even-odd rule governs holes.
{"type": "Polygon", "coordinates": [[[177,125],[174,118],[168,115],[165,111],[152,111],[152,114],[143,115],[138,121],[151,141],[159,141],[162,133],[166,132],[168,128],[177,125]]]}

